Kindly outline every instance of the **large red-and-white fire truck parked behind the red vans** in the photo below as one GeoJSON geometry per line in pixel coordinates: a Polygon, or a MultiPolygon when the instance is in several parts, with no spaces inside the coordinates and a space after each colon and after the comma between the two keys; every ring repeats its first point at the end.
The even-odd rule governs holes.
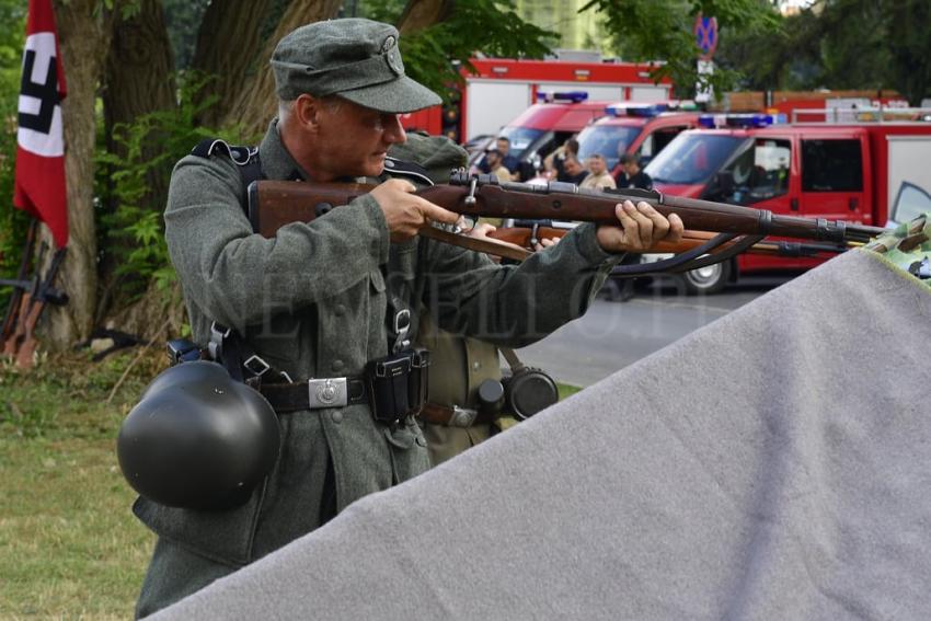
{"type": "Polygon", "coordinates": [[[668,79],[654,83],[645,64],[507,58],[473,58],[471,64],[476,72],[462,69],[464,82],[447,104],[403,115],[404,127],[463,142],[497,135],[537,103],[540,92],[582,91],[589,101],[655,102],[668,100],[673,89],[668,79]]]}

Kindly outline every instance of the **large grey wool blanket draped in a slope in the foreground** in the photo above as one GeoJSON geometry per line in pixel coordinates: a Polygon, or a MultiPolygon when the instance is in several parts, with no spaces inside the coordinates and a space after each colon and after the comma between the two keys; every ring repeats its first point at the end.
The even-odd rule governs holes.
{"type": "Polygon", "coordinates": [[[849,252],[153,619],[931,619],[930,320],[849,252]]]}

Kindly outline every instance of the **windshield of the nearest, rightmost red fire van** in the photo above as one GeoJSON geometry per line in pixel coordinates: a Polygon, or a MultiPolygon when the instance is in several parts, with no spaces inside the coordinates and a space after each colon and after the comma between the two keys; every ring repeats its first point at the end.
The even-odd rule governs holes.
{"type": "Polygon", "coordinates": [[[745,141],[733,136],[679,134],[647,164],[646,174],[655,183],[703,184],[745,141]]]}

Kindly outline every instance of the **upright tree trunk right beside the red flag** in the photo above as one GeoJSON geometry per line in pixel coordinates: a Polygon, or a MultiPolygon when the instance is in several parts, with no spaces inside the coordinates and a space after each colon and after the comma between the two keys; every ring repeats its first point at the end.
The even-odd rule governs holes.
{"type": "Polygon", "coordinates": [[[68,292],[70,301],[66,307],[48,307],[46,315],[47,334],[57,347],[66,347],[90,335],[96,304],[94,101],[112,24],[111,14],[97,5],[99,0],[55,0],[54,3],[68,84],[61,113],[70,228],[68,255],[58,275],[58,285],[68,292]]]}

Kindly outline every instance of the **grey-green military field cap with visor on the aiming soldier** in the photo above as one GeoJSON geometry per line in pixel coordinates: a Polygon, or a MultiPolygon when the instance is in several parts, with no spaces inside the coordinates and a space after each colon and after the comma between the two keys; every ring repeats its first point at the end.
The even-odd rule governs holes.
{"type": "Polygon", "coordinates": [[[371,20],[315,22],[286,35],[272,55],[278,96],[340,95],[379,112],[402,113],[440,103],[404,74],[398,30],[371,20]]]}

